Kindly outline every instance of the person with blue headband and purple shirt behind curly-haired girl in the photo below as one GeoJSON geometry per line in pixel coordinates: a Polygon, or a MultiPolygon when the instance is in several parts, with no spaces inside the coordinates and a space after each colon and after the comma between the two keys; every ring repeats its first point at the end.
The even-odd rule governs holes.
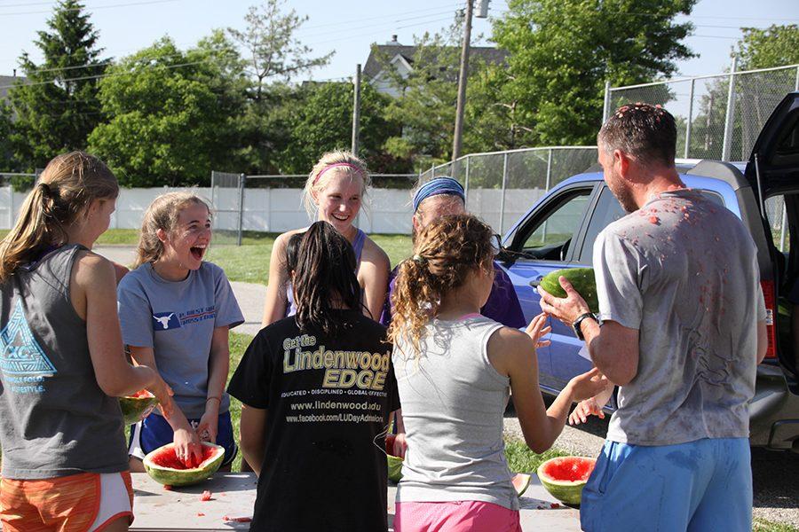
{"type": "MultiPolygon", "coordinates": [[[[417,187],[414,194],[414,239],[423,228],[441,216],[464,214],[466,214],[466,194],[463,186],[452,177],[435,177],[417,187]]],[[[395,269],[392,271],[388,297],[391,297],[394,291],[396,274],[395,269]]],[[[485,306],[480,309],[480,314],[516,329],[527,325],[513,284],[508,274],[496,262],[494,262],[494,286],[485,306]]],[[[380,322],[385,326],[392,322],[392,308],[388,298],[380,322]]]]}

